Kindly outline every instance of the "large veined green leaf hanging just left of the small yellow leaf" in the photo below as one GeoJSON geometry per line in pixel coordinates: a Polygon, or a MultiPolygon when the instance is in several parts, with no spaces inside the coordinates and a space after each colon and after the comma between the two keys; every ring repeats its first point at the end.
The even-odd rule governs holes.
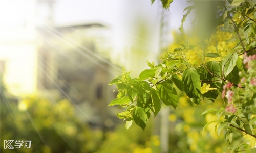
{"type": "Polygon", "coordinates": [[[182,74],[182,81],[184,84],[184,91],[190,100],[196,105],[200,103],[201,96],[201,82],[200,75],[193,67],[185,69],[182,74]]]}

